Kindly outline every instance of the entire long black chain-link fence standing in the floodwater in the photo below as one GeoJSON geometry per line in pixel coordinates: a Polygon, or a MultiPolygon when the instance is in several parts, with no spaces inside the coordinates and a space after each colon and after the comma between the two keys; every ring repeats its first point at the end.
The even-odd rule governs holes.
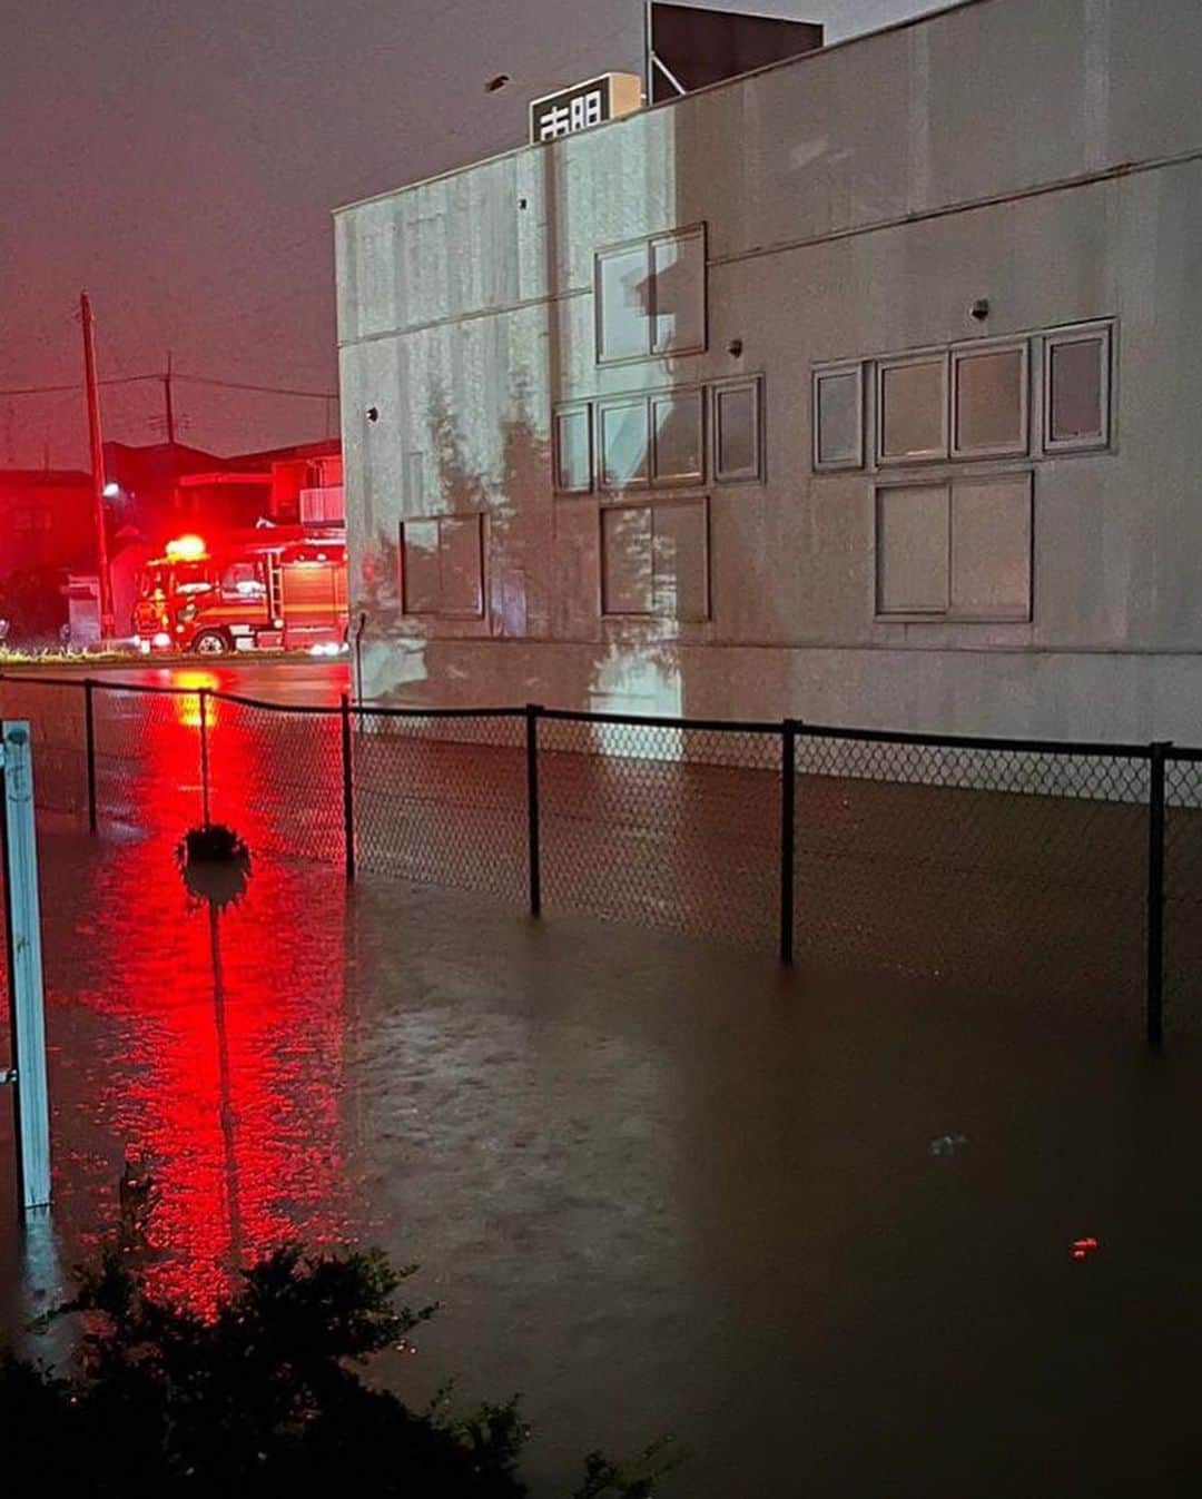
{"type": "Polygon", "coordinates": [[[1202,1030],[1202,750],[0,678],[39,806],[1202,1030]]]}

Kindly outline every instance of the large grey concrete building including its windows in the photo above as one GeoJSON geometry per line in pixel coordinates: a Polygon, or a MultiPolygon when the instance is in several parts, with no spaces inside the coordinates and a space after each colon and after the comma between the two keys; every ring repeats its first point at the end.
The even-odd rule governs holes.
{"type": "Polygon", "coordinates": [[[1199,57],[970,0],[340,210],[364,694],[1202,742],[1199,57]]]}

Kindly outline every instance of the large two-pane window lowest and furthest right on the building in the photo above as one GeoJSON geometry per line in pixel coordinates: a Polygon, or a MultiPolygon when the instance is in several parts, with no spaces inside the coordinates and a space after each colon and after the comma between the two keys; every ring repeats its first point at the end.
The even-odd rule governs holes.
{"type": "Polygon", "coordinates": [[[1031,618],[1031,475],[877,490],[877,615],[1031,618]]]}

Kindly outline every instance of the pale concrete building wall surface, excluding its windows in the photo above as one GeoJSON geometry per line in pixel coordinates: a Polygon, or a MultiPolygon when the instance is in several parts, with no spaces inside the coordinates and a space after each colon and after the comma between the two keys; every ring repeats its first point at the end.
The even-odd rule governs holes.
{"type": "Polygon", "coordinates": [[[1195,0],[977,0],[343,210],[364,693],[1202,742],[1199,48],[1195,0]],[[597,250],[701,223],[704,351],[598,364],[597,250]],[[971,465],[1033,474],[1030,621],[877,618],[886,475],[814,472],[814,366],[1094,319],[1109,448],[971,465]],[[709,618],[602,618],[622,496],[555,495],[553,408],[739,375],[709,618]],[[406,613],[402,522],[477,511],[480,618],[406,613]]]}

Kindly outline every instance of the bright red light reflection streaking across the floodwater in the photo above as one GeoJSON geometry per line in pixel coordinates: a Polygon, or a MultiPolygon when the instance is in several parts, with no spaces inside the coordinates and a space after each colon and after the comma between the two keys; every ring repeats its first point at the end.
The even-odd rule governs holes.
{"type": "MultiPolygon", "coordinates": [[[[207,1309],[234,1265],[273,1244],[348,1237],[345,887],[337,866],[259,853],[268,829],[243,796],[246,896],[222,913],[189,902],[174,845],[199,821],[198,699],[160,699],[151,712],[150,752],[121,767],[127,805],[150,832],[108,842],[96,865],[88,928],[99,950],[85,998],[112,1022],[100,1120],[154,1180],[151,1286],[207,1309]]],[[[264,757],[286,750],[249,733],[220,741],[222,781],[235,785],[271,773],[264,757]]]]}

